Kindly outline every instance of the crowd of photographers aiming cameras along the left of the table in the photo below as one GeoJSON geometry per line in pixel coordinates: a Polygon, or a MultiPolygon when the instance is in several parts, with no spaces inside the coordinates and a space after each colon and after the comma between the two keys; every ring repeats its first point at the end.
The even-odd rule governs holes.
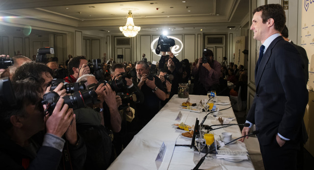
{"type": "Polygon", "coordinates": [[[2,167],[106,169],[178,94],[179,84],[194,84],[194,94],[224,90],[223,71],[212,51],[205,49],[192,64],[171,53],[173,44],[170,38],[160,36],[158,63],[147,62],[145,54],[134,64],[69,55],[67,65],[61,66],[47,59],[53,48],[38,49],[33,61],[2,55],[2,167]]]}

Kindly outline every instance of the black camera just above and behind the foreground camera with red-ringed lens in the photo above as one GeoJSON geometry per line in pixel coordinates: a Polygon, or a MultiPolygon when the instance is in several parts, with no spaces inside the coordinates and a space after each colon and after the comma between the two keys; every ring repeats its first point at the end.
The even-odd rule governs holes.
{"type": "Polygon", "coordinates": [[[85,90],[86,86],[84,85],[84,83],[86,83],[86,81],[81,81],[79,83],[65,83],[63,79],[53,79],[51,81],[51,87],[50,90],[54,90],[60,83],[63,83],[63,87],[60,89],[66,89],[66,93],[74,93],[76,91],[79,90],[85,90]]]}

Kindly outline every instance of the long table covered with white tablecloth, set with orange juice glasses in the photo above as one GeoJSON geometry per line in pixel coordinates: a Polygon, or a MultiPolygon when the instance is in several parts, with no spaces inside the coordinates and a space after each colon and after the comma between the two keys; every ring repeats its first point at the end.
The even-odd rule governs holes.
{"type": "MultiPolygon", "coordinates": [[[[208,99],[207,96],[189,95],[191,103],[199,103],[202,99],[208,99]]],[[[218,96],[219,100],[229,100],[229,97],[218,96]]],[[[195,167],[194,160],[199,159],[198,151],[189,147],[175,146],[175,144],[190,144],[191,140],[179,137],[180,132],[172,126],[174,123],[184,122],[187,125],[194,125],[196,118],[200,121],[205,116],[205,112],[194,113],[183,111],[181,104],[186,99],[173,96],[170,101],[156,114],[156,116],[137,134],[129,145],[122,151],[117,159],[110,165],[108,170],[191,170],[195,167]],[[178,113],[183,114],[180,121],[175,120],[178,113]],[[166,152],[163,161],[160,164],[155,162],[157,154],[162,143],[166,145],[166,152]]],[[[217,105],[222,110],[231,105],[217,105]]],[[[150,111],[147,111],[150,112],[150,111]]],[[[235,117],[232,108],[220,111],[219,116],[235,117]]],[[[136,113],[135,113],[136,116],[136,113]]],[[[236,119],[230,123],[237,123],[236,119]]],[[[219,124],[212,115],[209,115],[205,123],[207,125],[219,124]]],[[[230,126],[211,131],[216,139],[222,132],[231,132],[232,138],[241,137],[238,126],[230,126]]],[[[245,143],[236,142],[221,147],[222,150],[246,150],[245,143]]],[[[202,155],[204,155],[202,153],[202,155]]],[[[230,162],[224,159],[205,160],[200,169],[210,170],[252,170],[254,166],[251,160],[241,162],[230,162]]]]}

